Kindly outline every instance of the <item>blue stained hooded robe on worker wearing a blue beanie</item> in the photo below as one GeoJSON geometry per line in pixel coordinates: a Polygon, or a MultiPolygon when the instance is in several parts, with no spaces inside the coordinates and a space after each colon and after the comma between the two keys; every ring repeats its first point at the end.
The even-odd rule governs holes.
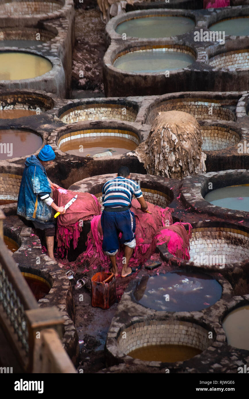
{"type": "Polygon", "coordinates": [[[51,193],[51,186],[45,168],[38,158],[32,155],[25,161],[18,195],[17,214],[39,223],[55,223],[51,206],[40,199],[39,193],[51,193]]]}

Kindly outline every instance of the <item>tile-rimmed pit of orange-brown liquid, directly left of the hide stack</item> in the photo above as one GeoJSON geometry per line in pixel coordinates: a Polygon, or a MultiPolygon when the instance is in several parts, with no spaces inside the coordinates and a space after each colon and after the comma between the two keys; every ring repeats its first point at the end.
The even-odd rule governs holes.
{"type": "Polygon", "coordinates": [[[118,129],[113,132],[96,129],[71,132],[61,136],[57,143],[61,151],[77,156],[95,156],[103,152],[111,152],[109,155],[124,154],[134,150],[138,144],[137,134],[118,129]]]}

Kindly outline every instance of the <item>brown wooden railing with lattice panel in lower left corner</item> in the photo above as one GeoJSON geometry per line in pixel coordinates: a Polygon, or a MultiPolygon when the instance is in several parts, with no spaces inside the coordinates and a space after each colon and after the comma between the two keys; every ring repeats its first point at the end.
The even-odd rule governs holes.
{"type": "MultiPolygon", "coordinates": [[[[3,217],[0,213],[0,222],[1,219],[3,217]]],[[[30,287],[4,244],[1,224],[0,328],[24,372],[76,372],[61,342],[59,344],[63,332],[63,319],[58,308],[38,306],[30,287]],[[49,337],[52,337],[51,342],[49,337]],[[43,347],[47,359],[44,354],[37,354],[41,354],[43,347]],[[71,371],[63,371],[65,369],[71,371]]]]}

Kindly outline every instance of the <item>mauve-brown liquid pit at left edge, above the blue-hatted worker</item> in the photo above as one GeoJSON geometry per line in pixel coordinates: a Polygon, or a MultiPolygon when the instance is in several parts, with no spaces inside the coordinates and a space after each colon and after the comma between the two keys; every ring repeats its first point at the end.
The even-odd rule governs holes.
{"type": "Polygon", "coordinates": [[[0,129],[0,160],[34,154],[42,138],[28,130],[0,129]]]}

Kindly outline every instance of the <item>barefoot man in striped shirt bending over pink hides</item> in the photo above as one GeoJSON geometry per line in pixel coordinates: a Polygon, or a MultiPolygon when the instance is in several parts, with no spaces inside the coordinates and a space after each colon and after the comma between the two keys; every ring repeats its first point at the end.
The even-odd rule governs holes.
{"type": "Polygon", "coordinates": [[[101,226],[103,230],[103,251],[109,255],[111,265],[110,271],[117,277],[119,275],[116,254],[119,249],[119,241],[124,244],[124,263],[121,277],[130,276],[141,267],[132,269],[128,267],[130,257],[136,247],[135,215],[130,211],[132,196],[141,205],[141,211],[148,209],[143,198],[142,191],[136,182],[130,180],[130,171],[126,166],[121,166],[115,179],[109,180],[103,186],[102,202],[104,210],[101,215],[101,226]],[[122,237],[119,240],[119,233],[122,237]]]}

